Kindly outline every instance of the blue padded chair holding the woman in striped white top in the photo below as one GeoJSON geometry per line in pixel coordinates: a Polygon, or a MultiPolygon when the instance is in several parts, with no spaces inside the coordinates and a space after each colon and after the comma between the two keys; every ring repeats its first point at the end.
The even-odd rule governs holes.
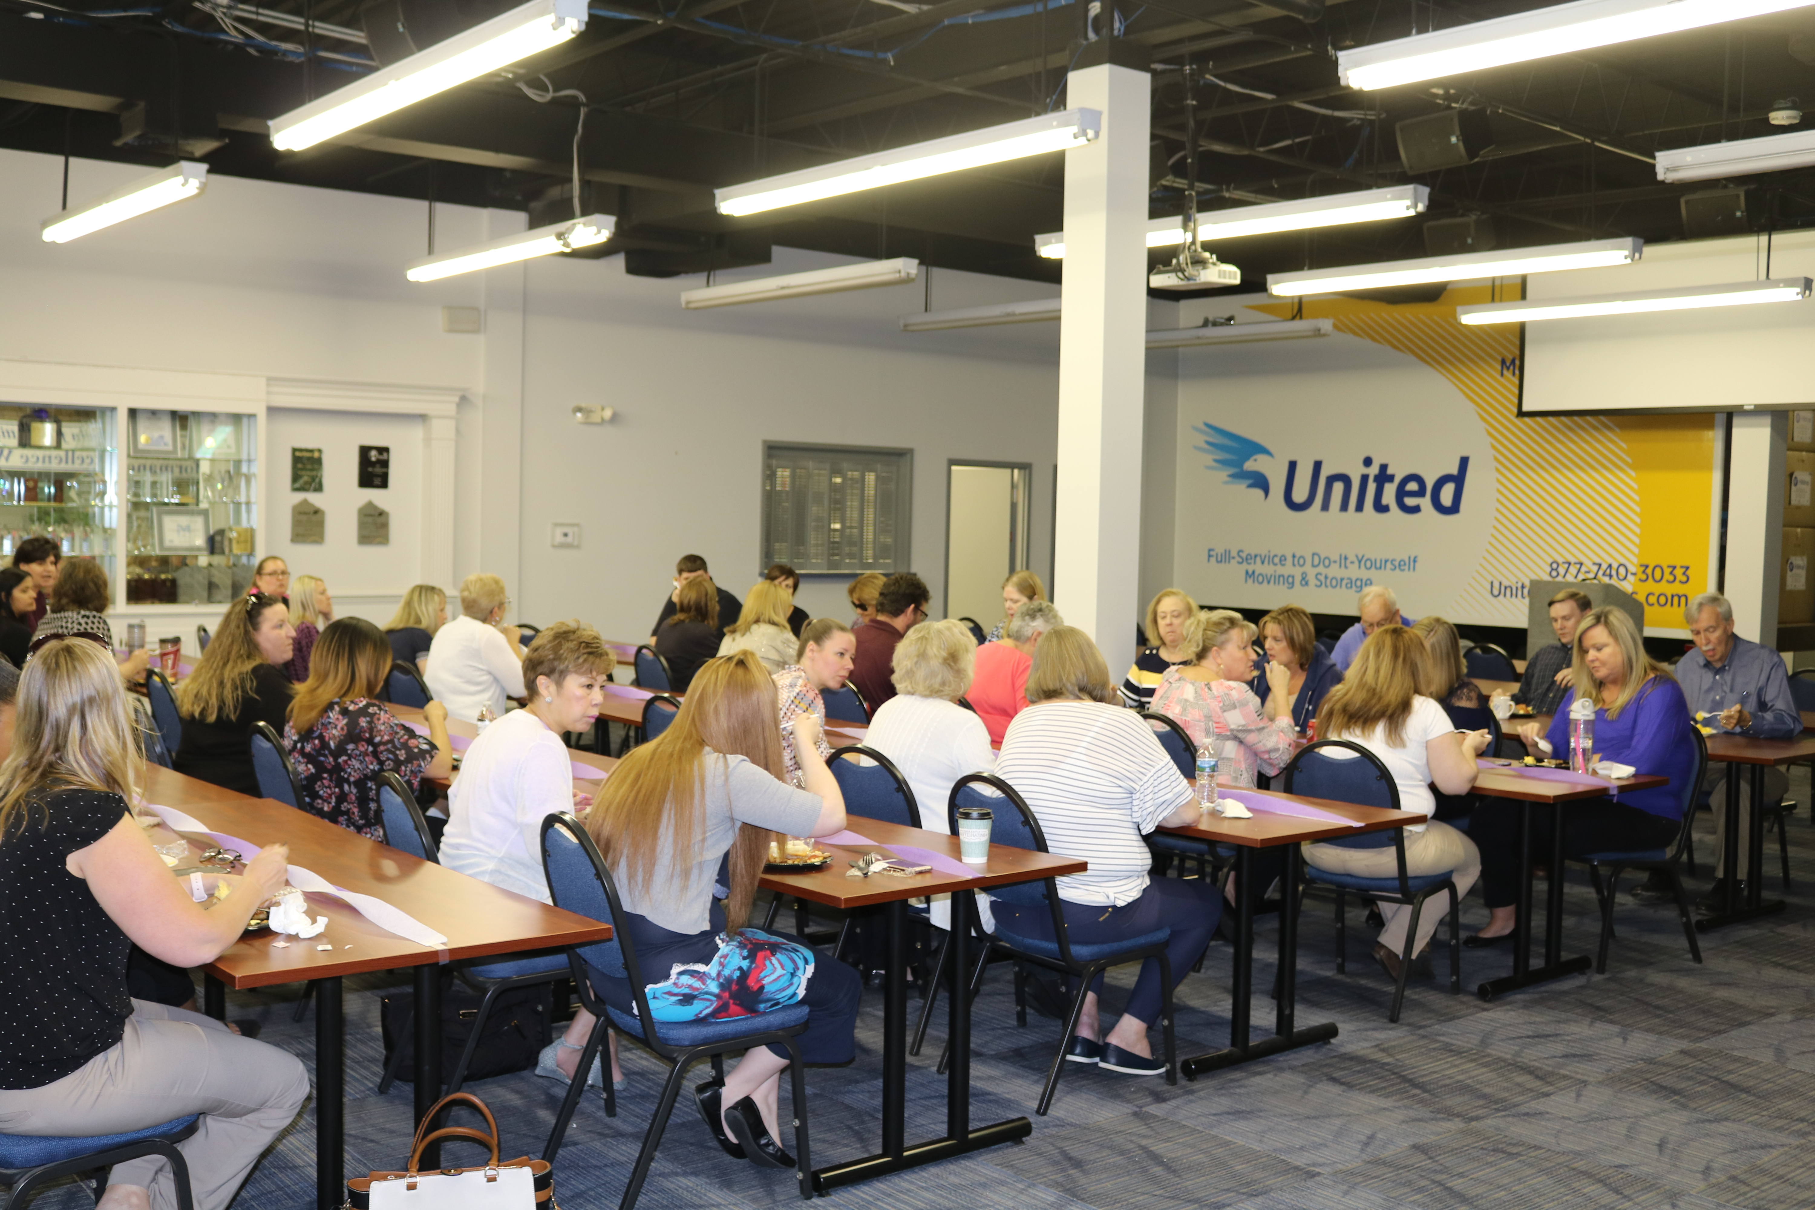
{"type": "MultiPolygon", "coordinates": [[[[998,778],[995,773],[966,773],[953,784],[951,798],[946,800],[946,820],[953,834],[958,831],[958,807],[989,807],[995,813],[995,824],[989,829],[991,844],[1031,849],[1035,853],[1051,853],[1051,849],[1045,847],[1045,833],[1040,829],[1040,820],[1035,818],[1027,800],[1024,800],[1013,786],[998,778]],[[986,793],[986,787],[995,791],[995,795],[986,793]]],[[[1071,1036],[1078,1029],[1078,1018],[1084,1016],[1084,996],[1091,989],[1091,981],[1109,967],[1145,961],[1147,958],[1160,960],[1160,1032],[1165,1038],[1165,1083],[1178,1083],[1178,1049],[1172,1045],[1172,963],[1165,956],[1165,943],[1172,938],[1171,929],[1154,929],[1153,932],[1127,938],[1125,942],[1078,945],[1073,943],[1071,932],[1065,927],[1065,914],[1060,909],[1056,878],[1022,882],[1009,887],[991,887],[989,898],[998,903],[1049,911],[1053,914],[1055,940],[1049,942],[1036,936],[1016,936],[1002,927],[1002,916],[998,914],[996,931],[989,936],[989,945],[984,945],[982,952],[978,952],[976,965],[971,971],[969,996],[975,1000],[978,989],[982,987],[991,949],[1004,951],[1015,961],[1016,1025],[1027,1025],[1029,965],[1056,971],[1073,981],[1071,1003],[1065,1010],[1065,1029],[1058,1036],[1058,1049],[1053,1052],[1053,1065],[1045,1074],[1045,1087],[1040,1090],[1040,1105],[1036,1107],[1036,1112],[1042,1117],[1049,1108],[1053,1108],[1053,1094],[1058,1090],[1058,1076],[1065,1069],[1065,1049],[1071,1045],[1071,1036]]],[[[946,1054],[938,1061],[940,1072],[946,1070],[949,1058],[951,1043],[947,1041],[946,1054]]]]}

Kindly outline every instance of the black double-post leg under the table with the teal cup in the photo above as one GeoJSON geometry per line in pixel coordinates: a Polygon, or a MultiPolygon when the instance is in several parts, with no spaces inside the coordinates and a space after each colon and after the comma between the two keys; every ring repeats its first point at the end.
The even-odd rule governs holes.
{"type": "Polygon", "coordinates": [[[891,1172],[906,1172],[940,1159],[953,1159],[969,1152],[1013,1143],[1033,1134],[1033,1123],[1025,1117],[1011,1117],[991,1127],[969,1125],[971,1121],[971,996],[969,996],[969,931],[971,931],[971,893],[957,891],[951,896],[951,1001],[947,1005],[951,1029],[951,1061],[946,1069],[946,1134],[926,1143],[904,1143],[906,1105],[908,1105],[908,976],[904,961],[908,956],[908,905],[893,902],[888,905],[889,920],[889,972],[884,987],[889,1000],[882,1014],[882,1152],[851,1159],[829,1168],[813,1172],[813,1192],[829,1194],[846,1185],[869,1181],[891,1172]]]}

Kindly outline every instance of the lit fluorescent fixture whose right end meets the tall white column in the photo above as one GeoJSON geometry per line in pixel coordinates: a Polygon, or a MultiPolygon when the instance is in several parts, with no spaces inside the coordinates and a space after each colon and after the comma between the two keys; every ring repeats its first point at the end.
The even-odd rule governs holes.
{"type": "MultiPolygon", "coordinates": [[[[1811,0],[1815,2],[1815,0],[1811,0]]],[[[719,214],[757,214],[784,205],[855,194],[864,189],[917,181],[942,172],[962,172],[986,163],[1022,160],[1049,151],[1082,147],[1096,138],[1104,116],[1094,109],[1024,118],[967,134],[951,134],[926,143],[911,143],[873,156],[840,160],[817,169],[784,172],[748,185],[715,189],[719,214]]]]}

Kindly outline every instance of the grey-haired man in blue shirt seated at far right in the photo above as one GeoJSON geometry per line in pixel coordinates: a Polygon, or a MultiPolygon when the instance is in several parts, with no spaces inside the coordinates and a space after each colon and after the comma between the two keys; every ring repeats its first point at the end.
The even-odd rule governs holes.
{"type": "MultiPolygon", "coordinates": [[[[1802,715],[1795,698],[1790,697],[1790,673],[1777,651],[1761,648],[1755,642],[1733,633],[1733,606],[1721,593],[1702,593],[1683,611],[1690,624],[1690,637],[1695,649],[1677,664],[1677,682],[1683,697],[1688,698],[1690,713],[1704,733],[1744,735],[1755,740],[1790,740],[1802,733],[1802,715]]],[[[1724,787],[1733,766],[1710,764],[1702,778],[1702,791],[1724,787]]],[[[1790,776],[1779,767],[1764,771],[1764,800],[1777,804],[1790,789],[1790,776]]],[[[1741,834],[1739,876],[1751,878],[1748,864],[1746,836],[1751,827],[1751,786],[1750,778],[1741,780],[1741,834]]],[[[1712,798],[1715,805],[1715,869],[1726,849],[1726,811],[1724,796],[1712,798]]],[[[1710,900],[1724,902],[1724,883],[1715,882],[1710,900]]]]}

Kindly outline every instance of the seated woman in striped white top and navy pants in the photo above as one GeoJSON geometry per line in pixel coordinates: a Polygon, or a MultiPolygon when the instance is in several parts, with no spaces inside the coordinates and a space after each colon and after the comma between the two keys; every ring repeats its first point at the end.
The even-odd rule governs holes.
{"type": "MultiPolygon", "coordinates": [[[[1074,626],[1056,626],[1040,639],[1027,702],[1009,724],[996,775],[1027,800],[1053,853],[1091,864],[1058,880],[1073,943],[1100,945],[1171,927],[1165,956],[1178,985],[1211,943],[1223,900],[1216,883],[1149,878],[1153,853],[1143,836],[1162,824],[1202,818],[1191,782],[1160,747],[1153,726],[1116,704],[1102,653],[1074,626]]],[[[1045,905],[991,907],[1002,931],[1053,936],[1045,905]]],[[[1096,1009],[1100,990],[1102,976],[1085,994],[1067,1058],[1127,1076],[1163,1074],[1165,1063],[1153,1058],[1147,1041],[1147,1027],[1160,1016],[1160,963],[1142,963],[1127,1009],[1107,1036],[1096,1009]]]]}

